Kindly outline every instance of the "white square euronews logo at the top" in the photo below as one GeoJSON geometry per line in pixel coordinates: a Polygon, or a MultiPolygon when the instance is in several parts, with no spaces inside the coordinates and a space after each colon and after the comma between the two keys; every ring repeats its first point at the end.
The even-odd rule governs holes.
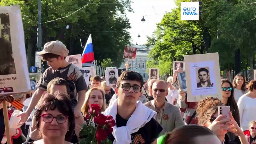
{"type": "Polygon", "coordinates": [[[199,20],[199,2],[181,2],[181,20],[199,20]]]}

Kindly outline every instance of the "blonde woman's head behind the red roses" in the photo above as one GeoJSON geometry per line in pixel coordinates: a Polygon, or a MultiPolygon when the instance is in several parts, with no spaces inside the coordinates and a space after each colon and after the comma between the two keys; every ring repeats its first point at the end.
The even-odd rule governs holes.
{"type": "Polygon", "coordinates": [[[100,113],[104,112],[106,109],[106,102],[105,102],[105,91],[101,87],[94,87],[91,88],[85,94],[85,101],[81,108],[81,111],[84,116],[86,116],[90,110],[91,104],[99,104],[101,109],[100,113]]]}

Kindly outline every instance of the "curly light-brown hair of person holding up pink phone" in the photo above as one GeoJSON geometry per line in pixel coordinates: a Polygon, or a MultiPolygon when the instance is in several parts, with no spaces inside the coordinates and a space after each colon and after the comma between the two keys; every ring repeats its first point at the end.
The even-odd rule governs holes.
{"type": "Polygon", "coordinates": [[[210,118],[218,111],[218,107],[223,105],[221,100],[213,97],[206,97],[199,101],[196,107],[198,123],[203,125],[210,120],[210,118]]]}

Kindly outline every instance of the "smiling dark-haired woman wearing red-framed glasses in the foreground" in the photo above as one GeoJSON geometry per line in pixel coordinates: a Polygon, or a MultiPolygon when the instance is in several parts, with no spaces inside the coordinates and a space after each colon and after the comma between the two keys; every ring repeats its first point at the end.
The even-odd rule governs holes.
{"type": "Polygon", "coordinates": [[[34,115],[41,140],[23,144],[71,144],[75,128],[72,102],[66,94],[46,94],[34,115]]]}

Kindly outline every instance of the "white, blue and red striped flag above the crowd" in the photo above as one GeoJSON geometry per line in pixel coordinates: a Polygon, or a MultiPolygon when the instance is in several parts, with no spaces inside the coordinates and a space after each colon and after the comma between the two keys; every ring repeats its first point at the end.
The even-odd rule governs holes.
{"type": "Polygon", "coordinates": [[[93,41],[91,40],[91,34],[87,40],[87,43],[84,47],[84,51],[82,53],[82,63],[91,62],[94,60],[94,53],[93,53],[93,41]]]}

